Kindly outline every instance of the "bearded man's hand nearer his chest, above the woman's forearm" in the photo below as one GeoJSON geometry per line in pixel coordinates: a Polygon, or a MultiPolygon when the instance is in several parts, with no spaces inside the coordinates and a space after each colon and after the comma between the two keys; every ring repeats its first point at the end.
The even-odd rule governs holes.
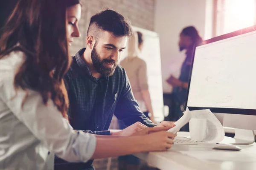
{"type": "Polygon", "coordinates": [[[111,135],[113,135],[113,136],[131,136],[134,133],[137,133],[145,128],[147,128],[146,125],[143,125],[140,122],[136,122],[133,125],[128,126],[123,130],[120,130],[119,132],[111,132],[111,135]]]}

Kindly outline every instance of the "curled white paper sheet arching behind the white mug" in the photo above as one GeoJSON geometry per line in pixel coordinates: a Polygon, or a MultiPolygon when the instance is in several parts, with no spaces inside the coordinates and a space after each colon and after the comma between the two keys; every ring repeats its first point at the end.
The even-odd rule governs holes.
{"type": "Polygon", "coordinates": [[[221,122],[219,122],[219,120],[209,109],[189,111],[189,109],[186,108],[183,116],[179,120],[177,120],[177,122],[175,122],[176,126],[169,129],[168,132],[177,133],[180,128],[186,125],[186,123],[188,123],[189,120],[192,118],[207,119],[206,135],[203,139],[203,142],[218,143],[224,139],[225,132],[221,125],[221,122]]]}

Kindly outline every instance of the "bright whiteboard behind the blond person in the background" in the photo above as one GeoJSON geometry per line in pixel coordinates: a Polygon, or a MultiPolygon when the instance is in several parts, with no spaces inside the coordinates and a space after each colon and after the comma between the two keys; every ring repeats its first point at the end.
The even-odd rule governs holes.
{"type": "MultiPolygon", "coordinates": [[[[143,34],[144,44],[140,58],[147,64],[148,87],[154,117],[157,122],[161,122],[164,119],[164,114],[159,36],[156,32],[143,28],[133,27],[133,29],[134,31],[140,31],[143,34]]],[[[120,60],[125,57],[127,57],[127,48],[124,50],[120,60]]]]}

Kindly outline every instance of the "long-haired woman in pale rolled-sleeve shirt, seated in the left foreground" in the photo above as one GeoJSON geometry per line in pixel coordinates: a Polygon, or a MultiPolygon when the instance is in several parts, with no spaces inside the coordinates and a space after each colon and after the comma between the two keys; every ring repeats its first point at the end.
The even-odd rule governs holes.
{"type": "Polygon", "coordinates": [[[0,169],[53,170],[54,154],[87,162],[171,147],[168,128],[145,128],[129,137],[73,130],[63,80],[71,61],[66,9],[66,0],[18,0],[3,28],[0,169]]]}

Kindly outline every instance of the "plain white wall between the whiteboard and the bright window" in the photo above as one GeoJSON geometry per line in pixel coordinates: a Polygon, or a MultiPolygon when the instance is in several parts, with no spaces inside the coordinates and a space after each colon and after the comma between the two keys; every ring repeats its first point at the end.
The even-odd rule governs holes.
{"type": "Polygon", "coordinates": [[[155,0],[154,30],[160,36],[163,92],[171,93],[166,83],[170,74],[178,77],[185,58],[178,48],[179,34],[186,26],[195,26],[204,38],[207,0],[155,0]]]}

